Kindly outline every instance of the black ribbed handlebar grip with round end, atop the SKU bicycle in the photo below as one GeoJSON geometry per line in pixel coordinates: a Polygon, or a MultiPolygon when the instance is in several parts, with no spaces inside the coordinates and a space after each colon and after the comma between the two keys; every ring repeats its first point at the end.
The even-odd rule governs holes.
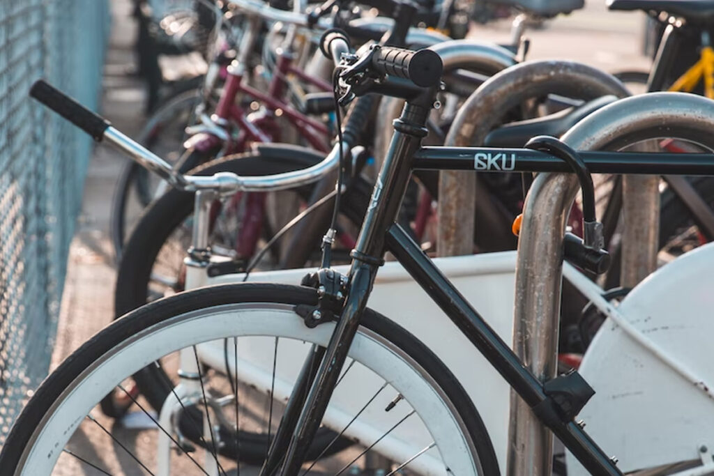
{"type": "Polygon", "coordinates": [[[441,81],[441,56],[430,49],[412,51],[393,46],[378,46],[372,56],[372,66],[389,76],[408,79],[417,86],[428,88],[441,81]]]}

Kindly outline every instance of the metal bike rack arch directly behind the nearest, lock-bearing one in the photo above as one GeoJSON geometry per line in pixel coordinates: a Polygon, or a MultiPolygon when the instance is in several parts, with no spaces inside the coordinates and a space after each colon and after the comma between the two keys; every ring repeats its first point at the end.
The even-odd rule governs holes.
{"type": "MultiPolygon", "coordinates": [[[[559,93],[585,100],[608,94],[629,96],[610,74],[571,61],[527,61],[483,83],[463,104],[446,137],[446,146],[483,143],[505,111],[528,98],[559,93]]],[[[438,211],[438,254],[470,254],[473,249],[476,183],[473,174],[441,172],[438,211]]],[[[525,474],[525,473],[524,473],[525,474]]]]}

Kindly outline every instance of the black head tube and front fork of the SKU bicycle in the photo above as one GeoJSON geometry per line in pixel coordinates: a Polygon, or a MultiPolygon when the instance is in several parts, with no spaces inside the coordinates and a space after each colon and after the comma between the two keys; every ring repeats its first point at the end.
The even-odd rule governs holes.
{"type": "MultiPolygon", "coordinates": [[[[433,91],[425,96],[430,94],[433,96],[433,91]]],[[[428,102],[428,106],[431,106],[431,102],[428,102]]],[[[280,461],[283,461],[280,474],[295,476],[306,458],[357,333],[377,270],[383,264],[384,237],[396,220],[401,198],[406,192],[411,176],[411,164],[408,162],[420,146],[421,138],[426,136],[423,124],[426,123],[428,106],[408,103],[401,118],[394,123],[396,131],[374,186],[357,245],[351,253],[353,262],[341,316],[317,372],[312,375],[305,371],[313,363],[306,362],[303,365],[303,372],[293,388],[288,409],[278,427],[276,435],[279,438],[276,437],[271,445],[261,476],[275,475],[280,468],[280,461]],[[382,203],[382,197],[388,200],[382,203]],[[289,442],[287,435],[291,435],[289,442]]],[[[314,359],[316,355],[311,353],[308,359],[314,359]]]]}

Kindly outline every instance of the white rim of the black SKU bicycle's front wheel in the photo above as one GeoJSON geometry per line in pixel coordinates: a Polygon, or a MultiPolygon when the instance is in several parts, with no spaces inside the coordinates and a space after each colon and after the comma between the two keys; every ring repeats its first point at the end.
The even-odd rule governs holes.
{"type": "MultiPolygon", "coordinates": [[[[153,325],[105,353],[63,391],[31,436],[16,474],[51,474],[69,438],[97,402],[124,378],[164,355],[199,343],[249,336],[326,345],[333,328],[331,323],[306,328],[291,306],[272,303],[221,305],[176,315],[153,325]]],[[[403,395],[436,443],[436,448],[410,463],[411,470],[424,475],[481,473],[478,455],[463,421],[421,366],[381,336],[364,328],[356,335],[349,357],[403,395]]],[[[402,462],[423,450],[424,446],[388,435],[374,449],[402,462]]]]}

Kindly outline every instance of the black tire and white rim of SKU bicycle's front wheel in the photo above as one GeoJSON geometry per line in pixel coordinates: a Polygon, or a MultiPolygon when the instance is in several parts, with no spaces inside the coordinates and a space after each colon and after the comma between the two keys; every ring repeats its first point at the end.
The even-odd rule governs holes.
{"type": "MultiPolygon", "coordinates": [[[[316,290],[311,288],[268,283],[240,283],[181,293],[155,301],[125,315],[84,343],[42,383],[9,433],[0,452],[0,467],[3,468],[4,474],[12,475],[44,475],[44,471],[26,469],[25,466],[19,468],[20,465],[51,465],[47,469],[52,470],[56,457],[61,453],[57,447],[60,444],[64,447],[71,434],[74,434],[74,430],[84,421],[91,407],[96,405],[94,398],[119,385],[117,381],[121,383],[124,378],[129,377],[116,370],[111,371],[112,363],[117,360],[120,365],[124,365],[121,370],[131,374],[132,368],[145,365],[144,362],[147,360],[158,360],[164,352],[172,353],[187,345],[196,348],[195,346],[202,342],[233,337],[237,339],[239,332],[243,332],[246,336],[275,335],[276,338],[284,336],[298,343],[303,341],[308,344],[326,345],[334,323],[326,323],[310,329],[304,325],[303,319],[296,311],[296,306],[316,305],[317,300],[316,290]],[[278,308],[278,305],[282,307],[278,308]],[[248,312],[241,312],[245,309],[248,312]],[[226,322],[236,325],[226,325],[226,322]],[[258,333],[250,328],[251,325],[262,325],[269,330],[258,333]],[[192,328],[193,332],[191,332],[192,328]],[[203,335],[196,337],[196,328],[200,328],[200,333],[203,335]],[[291,334],[288,328],[298,331],[293,331],[296,333],[291,334]],[[235,333],[232,332],[233,330],[235,333]],[[179,339],[181,342],[176,342],[176,335],[182,336],[179,339]],[[183,342],[183,339],[196,339],[196,341],[192,340],[189,343],[183,342]],[[104,366],[108,362],[109,367],[104,366]],[[76,398],[81,402],[73,400],[76,398]],[[58,421],[60,425],[66,425],[66,421],[74,423],[64,427],[64,431],[56,431],[54,425],[58,421]],[[50,448],[49,452],[48,448],[50,448]],[[41,457],[33,457],[38,451],[41,457]]],[[[457,474],[499,474],[491,439],[476,407],[473,406],[473,402],[458,380],[426,345],[393,321],[370,309],[366,309],[363,313],[356,342],[360,339],[363,341],[351,349],[352,358],[373,370],[386,383],[393,385],[394,391],[398,392],[398,395],[403,395],[410,405],[407,410],[412,408],[416,412],[416,407],[426,410],[427,405],[423,402],[427,400],[431,402],[428,411],[418,413],[426,429],[431,432],[431,438],[434,442],[438,440],[432,431],[436,428],[438,430],[436,433],[442,438],[446,433],[446,437],[450,441],[453,440],[450,445],[453,442],[460,443],[456,445],[458,450],[446,445],[440,447],[439,455],[444,457],[443,451],[446,451],[445,458],[448,460],[448,456],[453,458],[456,452],[458,458],[466,459],[459,460],[457,467],[461,463],[463,468],[466,463],[473,464],[476,469],[457,472],[457,474]],[[375,368],[375,365],[368,365],[371,358],[369,355],[373,355],[373,349],[361,350],[363,346],[360,344],[368,339],[381,343],[386,349],[386,353],[382,353],[381,358],[372,358],[372,363],[378,361],[381,369],[375,368]],[[398,369],[393,370],[397,364],[398,369]],[[410,365],[411,367],[408,367],[410,365]],[[403,368],[413,369],[413,373],[405,378],[411,379],[411,385],[419,383],[418,386],[399,388],[398,383],[393,383],[385,376],[397,371],[402,375],[403,368]],[[425,388],[429,391],[425,392],[425,388]],[[422,402],[421,406],[418,402],[422,402]],[[433,402],[441,402],[441,405],[435,407],[433,402]],[[445,412],[448,412],[446,415],[453,421],[443,417],[445,412]],[[425,417],[427,420],[424,420],[425,417]],[[434,421],[428,422],[430,419],[434,421]],[[444,425],[448,428],[441,428],[444,425]],[[453,431],[454,428],[456,432],[453,431]],[[461,445],[462,438],[463,445],[461,445]],[[462,455],[464,450],[471,450],[472,454],[462,455]]],[[[237,364],[236,356],[236,366],[234,366],[236,369],[237,364]]],[[[230,368],[228,373],[231,373],[230,368]]],[[[391,397],[391,393],[384,396],[391,397]]],[[[386,415],[383,417],[386,418],[386,415]]],[[[452,467],[452,461],[448,460],[445,463],[449,469],[452,467]]]]}

